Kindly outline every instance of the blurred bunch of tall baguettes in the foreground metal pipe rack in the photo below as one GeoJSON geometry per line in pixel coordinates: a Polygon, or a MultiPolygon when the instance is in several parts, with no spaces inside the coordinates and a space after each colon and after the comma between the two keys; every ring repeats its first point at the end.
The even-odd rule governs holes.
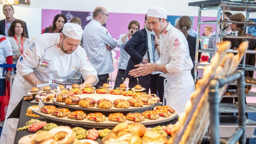
{"type": "MultiPolygon", "coordinates": [[[[218,53],[211,59],[210,65],[204,67],[203,78],[199,79],[191,94],[190,101],[186,103],[185,112],[179,115],[180,129],[177,130],[168,143],[201,143],[209,127],[209,81],[213,78],[232,74],[243,59],[249,42],[242,42],[238,47],[238,54],[228,53],[230,41],[223,41],[216,45],[218,53]]],[[[226,91],[227,85],[219,89],[219,99],[226,91]]]]}

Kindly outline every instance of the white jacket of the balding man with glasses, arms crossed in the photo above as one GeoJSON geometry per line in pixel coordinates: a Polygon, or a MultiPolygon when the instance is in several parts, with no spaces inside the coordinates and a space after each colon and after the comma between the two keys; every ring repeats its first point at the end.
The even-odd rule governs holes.
{"type": "MultiPolygon", "coordinates": [[[[118,41],[122,41],[119,39],[118,41]]],[[[113,59],[110,50],[117,46],[117,41],[111,37],[108,30],[97,20],[92,19],[84,29],[83,43],[91,64],[98,75],[108,74],[114,71],[113,59]]]]}

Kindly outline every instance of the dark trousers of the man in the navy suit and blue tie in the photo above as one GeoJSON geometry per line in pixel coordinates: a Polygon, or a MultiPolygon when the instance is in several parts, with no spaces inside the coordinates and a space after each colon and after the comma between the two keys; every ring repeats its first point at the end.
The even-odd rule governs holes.
{"type": "MultiPolygon", "coordinates": [[[[150,88],[150,81],[151,81],[151,74],[145,75],[145,76],[140,76],[137,77],[139,79],[139,85],[141,87],[144,87],[146,90],[143,90],[142,92],[149,93],[149,88],[150,88]]],[[[138,85],[137,78],[133,78],[134,85],[138,85]]]]}

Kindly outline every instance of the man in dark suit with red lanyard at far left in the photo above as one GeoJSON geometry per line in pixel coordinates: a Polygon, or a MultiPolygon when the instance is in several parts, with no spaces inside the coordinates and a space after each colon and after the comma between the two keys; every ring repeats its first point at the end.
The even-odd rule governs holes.
{"type": "MultiPolygon", "coordinates": [[[[11,23],[15,20],[15,18],[13,17],[13,14],[14,14],[13,6],[4,5],[3,6],[3,14],[5,15],[5,19],[0,21],[0,25],[2,26],[2,29],[5,32],[5,36],[8,37],[8,29],[10,28],[11,23]]],[[[25,23],[25,30],[26,30],[27,37],[29,37],[29,34],[27,33],[26,23],[25,23]]]]}

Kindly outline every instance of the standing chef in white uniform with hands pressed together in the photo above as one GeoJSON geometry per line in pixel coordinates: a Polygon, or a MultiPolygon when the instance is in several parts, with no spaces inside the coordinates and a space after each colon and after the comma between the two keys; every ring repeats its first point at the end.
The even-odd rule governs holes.
{"type": "Polygon", "coordinates": [[[160,58],[154,64],[135,65],[137,69],[129,74],[134,77],[144,76],[153,71],[161,71],[165,77],[166,105],[184,111],[185,104],[195,90],[191,75],[193,62],[189,56],[189,46],[184,34],[167,22],[167,10],[162,7],[149,8],[147,21],[155,34],[160,33],[160,58]]]}

